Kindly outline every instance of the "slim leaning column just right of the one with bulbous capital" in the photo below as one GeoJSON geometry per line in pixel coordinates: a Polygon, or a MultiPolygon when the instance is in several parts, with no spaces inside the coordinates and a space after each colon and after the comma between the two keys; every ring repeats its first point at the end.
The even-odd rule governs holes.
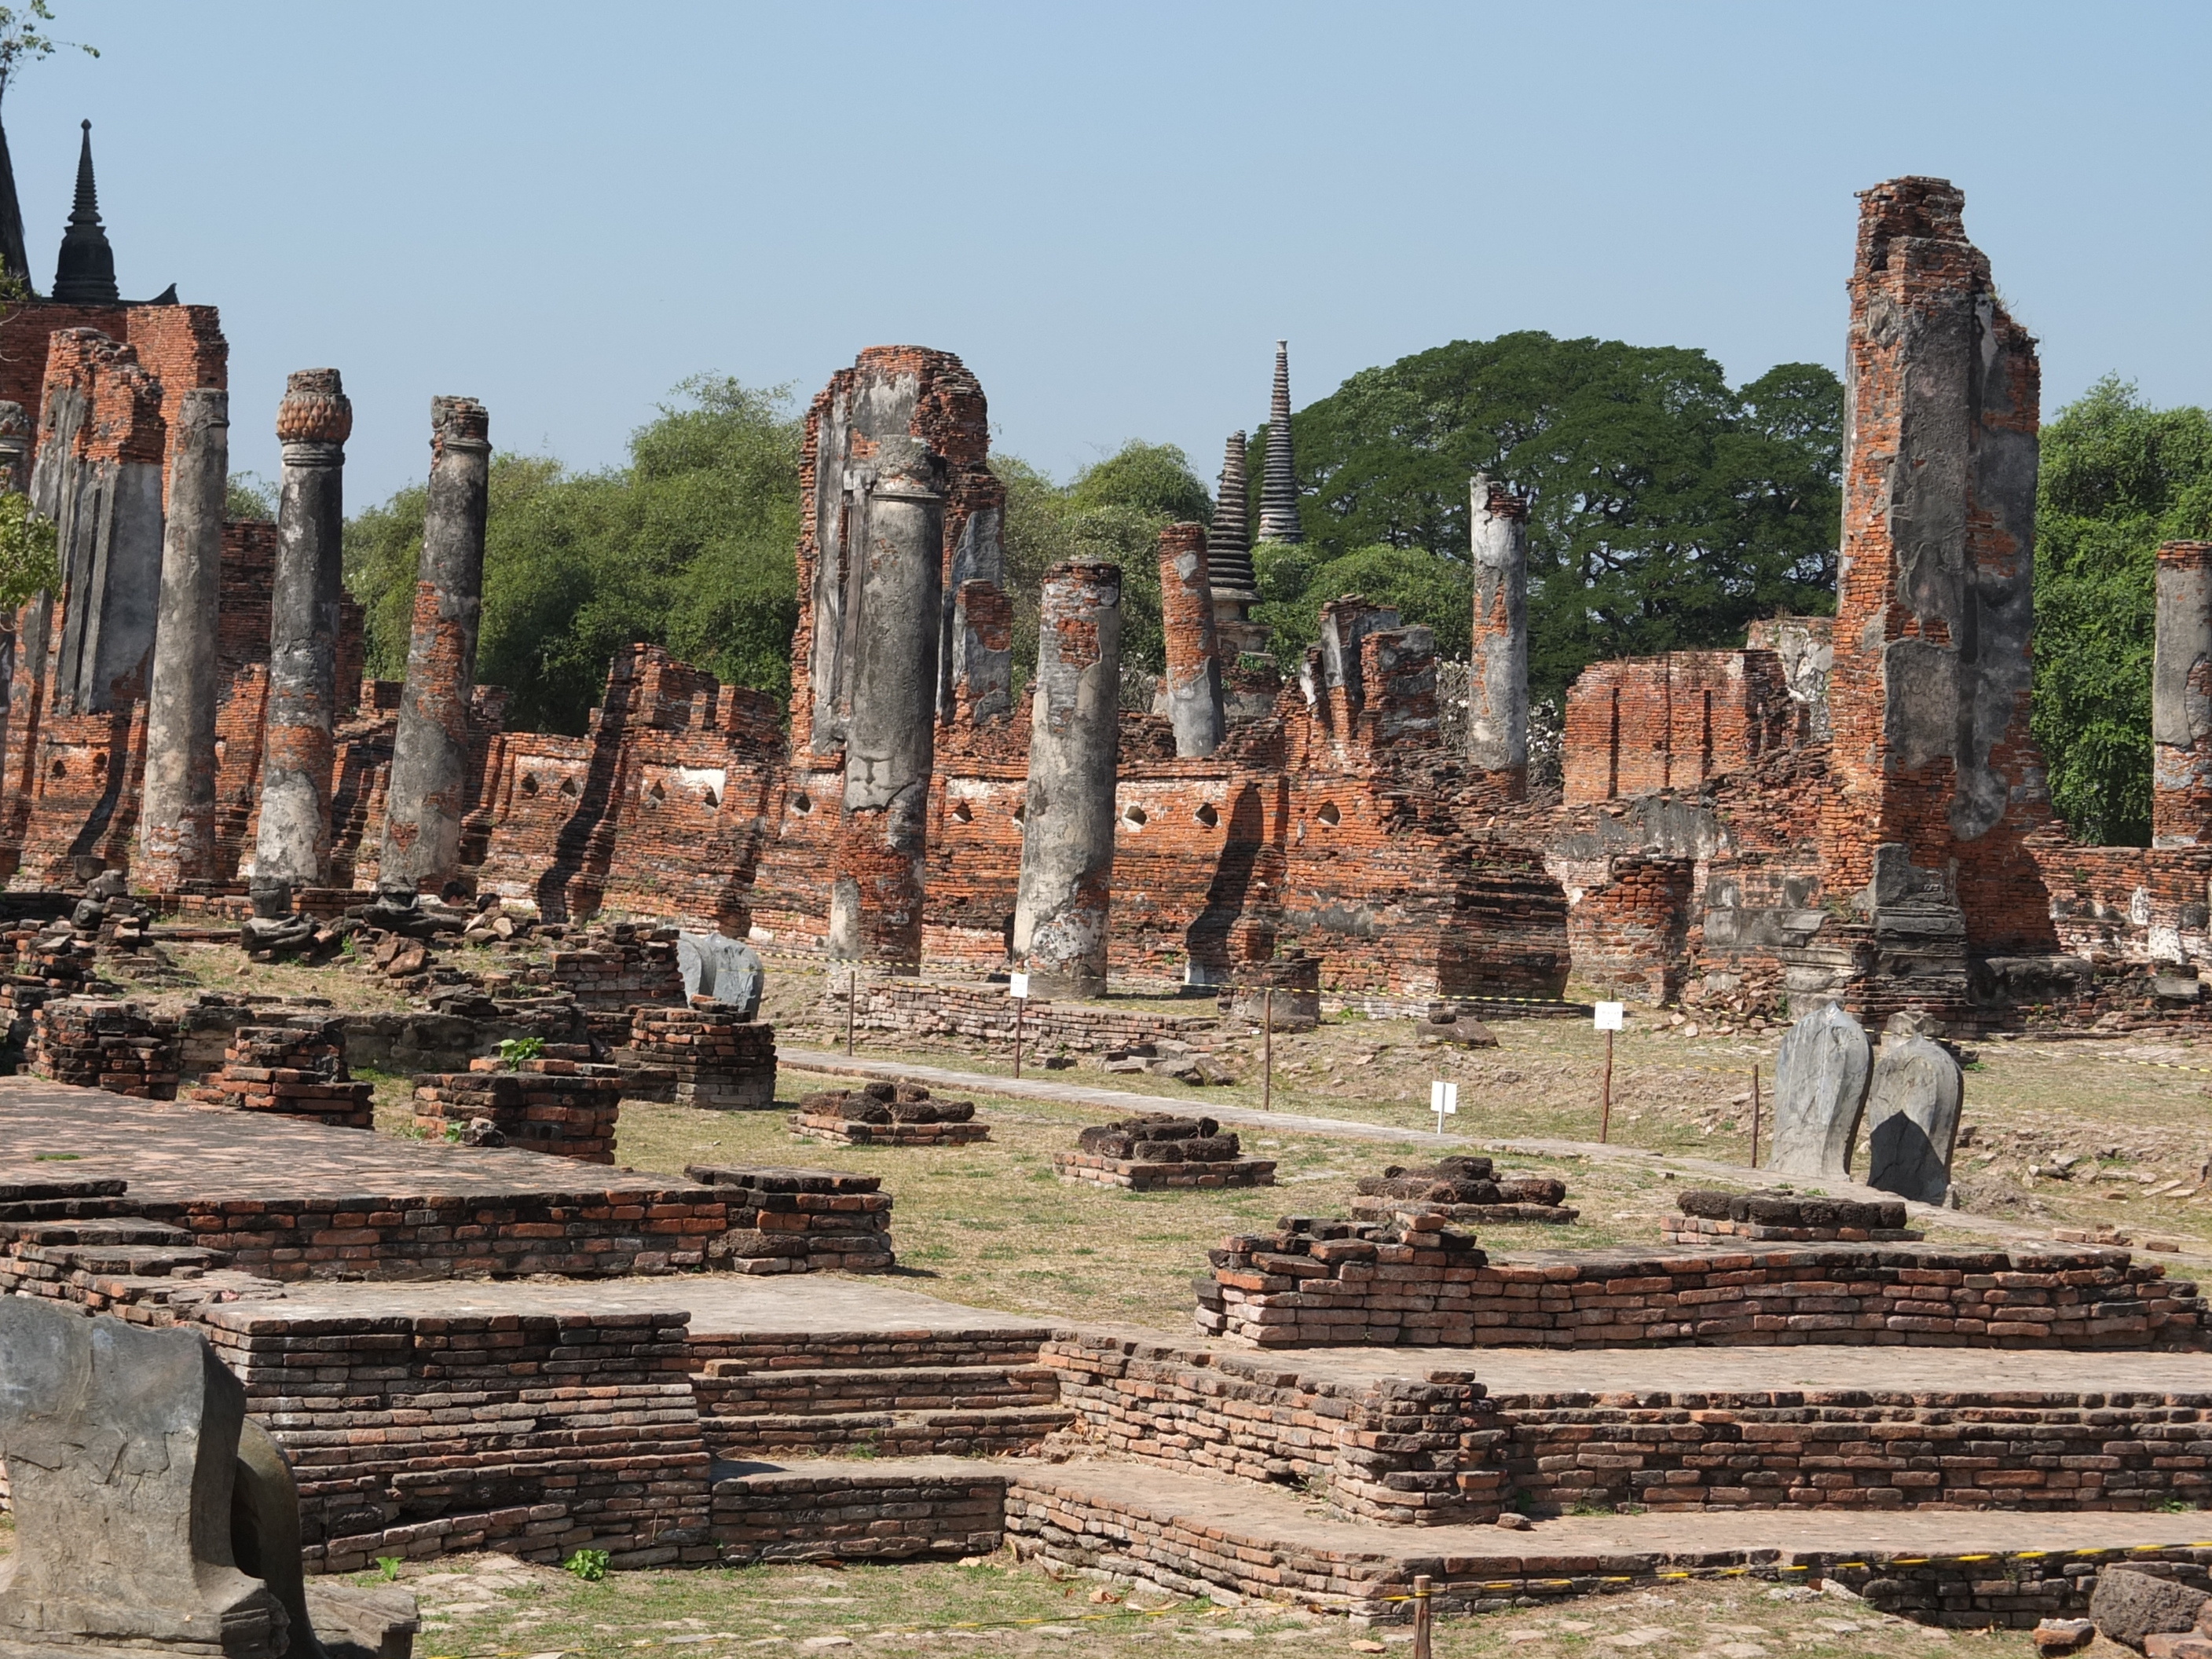
{"type": "Polygon", "coordinates": [[[476,398],[431,398],[429,420],[429,507],[376,885],[438,898],[460,874],[491,422],[476,398]]]}

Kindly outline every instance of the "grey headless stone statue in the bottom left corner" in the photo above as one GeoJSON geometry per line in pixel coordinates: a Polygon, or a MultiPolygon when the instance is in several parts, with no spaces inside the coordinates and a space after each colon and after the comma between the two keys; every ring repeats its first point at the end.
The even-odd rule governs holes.
{"type": "Polygon", "coordinates": [[[15,1511],[0,1659],[403,1659],[411,1646],[414,1597],[305,1590],[292,1471],[199,1332],[0,1296],[0,1462],[15,1511]],[[325,1650],[310,1604],[345,1639],[325,1650]]]}

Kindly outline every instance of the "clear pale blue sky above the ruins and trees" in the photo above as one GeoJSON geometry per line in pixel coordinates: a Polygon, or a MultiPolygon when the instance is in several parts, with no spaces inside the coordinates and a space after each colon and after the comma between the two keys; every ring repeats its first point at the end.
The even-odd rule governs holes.
{"type": "Polygon", "coordinates": [[[38,283],[88,115],[124,292],[223,310],[234,465],[336,365],[352,507],[431,394],[597,467],[690,374],[805,398],[894,341],[1062,478],[1212,478],[1276,336],[1301,405],[1517,327],[1838,365],[1900,173],[1966,190],[2046,411],[2212,403],[2203,4],[55,7],[104,55],[7,95],[38,283]]]}

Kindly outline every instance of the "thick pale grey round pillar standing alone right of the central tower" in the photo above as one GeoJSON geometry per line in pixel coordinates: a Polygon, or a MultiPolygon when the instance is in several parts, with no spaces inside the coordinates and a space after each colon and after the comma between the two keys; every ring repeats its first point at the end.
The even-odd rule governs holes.
{"type": "Polygon", "coordinates": [[[1115,759],[1121,739],[1121,566],[1044,575],[1013,960],[1035,995],[1106,993],[1115,759]]]}

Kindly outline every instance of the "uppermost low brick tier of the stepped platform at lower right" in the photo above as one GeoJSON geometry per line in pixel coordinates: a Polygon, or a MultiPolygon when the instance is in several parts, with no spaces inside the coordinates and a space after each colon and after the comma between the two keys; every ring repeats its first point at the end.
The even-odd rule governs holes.
{"type": "Polygon", "coordinates": [[[1261,1347],[2205,1345],[2197,1285],[2126,1250],[2079,1245],[1562,1250],[1462,1265],[1290,1230],[1228,1239],[1194,1285],[1199,1329],[1261,1347]]]}

